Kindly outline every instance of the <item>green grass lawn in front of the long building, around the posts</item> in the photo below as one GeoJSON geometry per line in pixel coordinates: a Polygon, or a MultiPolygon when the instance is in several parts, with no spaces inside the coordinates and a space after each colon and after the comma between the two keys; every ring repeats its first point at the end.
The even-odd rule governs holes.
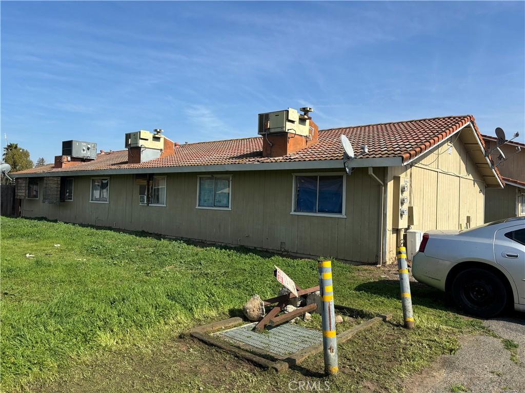
{"type": "Polygon", "coordinates": [[[277,375],[177,337],[239,315],[253,293],[275,296],[274,265],[303,288],[317,285],[315,261],[4,217],[1,241],[2,391],[282,391],[291,379],[398,391],[400,378],[454,353],[459,335],[485,331],[422,285],[412,288],[416,329],[407,331],[396,276],[335,261],[336,302],[392,312],[393,323],[340,345],[336,379],[322,376],[322,355],[277,375]]]}

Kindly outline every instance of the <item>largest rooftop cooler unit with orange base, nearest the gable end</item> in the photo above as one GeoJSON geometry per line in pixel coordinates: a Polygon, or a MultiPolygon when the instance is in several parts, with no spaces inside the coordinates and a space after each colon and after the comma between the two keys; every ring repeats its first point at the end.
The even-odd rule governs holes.
{"type": "Polygon", "coordinates": [[[288,108],[259,114],[259,135],[262,135],[262,156],[282,157],[317,144],[319,127],[313,122],[310,107],[302,114],[288,108]]]}

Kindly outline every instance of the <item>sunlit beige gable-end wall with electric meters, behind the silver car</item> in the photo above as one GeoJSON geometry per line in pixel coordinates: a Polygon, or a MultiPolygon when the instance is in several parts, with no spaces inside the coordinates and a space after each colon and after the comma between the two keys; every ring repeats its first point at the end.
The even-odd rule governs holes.
{"type": "Polygon", "coordinates": [[[414,206],[414,230],[460,230],[484,222],[485,182],[459,138],[450,139],[406,167],[388,169],[387,263],[395,263],[397,231],[392,214],[400,206],[393,200],[393,177],[409,178],[409,206],[414,206]],[[450,150],[449,150],[450,147],[450,150]]]}

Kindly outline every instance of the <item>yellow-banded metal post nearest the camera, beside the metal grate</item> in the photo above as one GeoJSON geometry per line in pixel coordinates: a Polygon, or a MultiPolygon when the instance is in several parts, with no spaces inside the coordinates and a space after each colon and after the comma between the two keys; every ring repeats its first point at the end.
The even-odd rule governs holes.
{"type": "Polygon", "coordinates": [[[319,291],[322,300],[324,370],[330,375],[337,374],[337,337],[335,336],[335,311],[333,307],[332,261],[320,258],[319,291]]]}

